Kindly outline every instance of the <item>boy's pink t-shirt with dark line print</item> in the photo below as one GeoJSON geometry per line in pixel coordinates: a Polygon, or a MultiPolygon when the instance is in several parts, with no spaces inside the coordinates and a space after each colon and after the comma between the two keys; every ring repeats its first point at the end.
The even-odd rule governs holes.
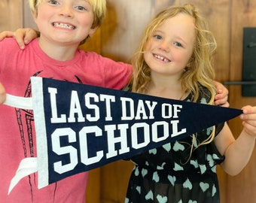
{"type": "MultiPolygon", "coordinates": [[[[131,65],[83,50],[78,50],[69,61],[56,61],[41,50],[38,39],[20,50],[13,38],[5,38],[0,42],[0,58],[0,82],[8,94],[23,97],[31,96],[29,79],[32,76],[121,89],[132,72],[131,65]]],[[[87,172],[42,189],[37,187],[35,173],[20,180],[8,195],[20,161],[25,157],[36,157],[35,143],[32,112],[0,105],[0,202],[84,203],[87,172]]]]}

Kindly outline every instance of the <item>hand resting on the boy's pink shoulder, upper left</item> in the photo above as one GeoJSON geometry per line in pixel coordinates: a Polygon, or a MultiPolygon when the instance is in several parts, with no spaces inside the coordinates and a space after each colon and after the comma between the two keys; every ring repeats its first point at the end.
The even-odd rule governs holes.
{"type": "Polygon", "coordinates": [[[17,44],[19,44],[20,49],[25,49],[25,44],[29,44],[32,39],[37,38],[40,35],[40,32],[25,28],[25,29],[17,29],[15,32],[4,31],[0,33],[0,41],[4,38],[15,38],[17,44]]]}

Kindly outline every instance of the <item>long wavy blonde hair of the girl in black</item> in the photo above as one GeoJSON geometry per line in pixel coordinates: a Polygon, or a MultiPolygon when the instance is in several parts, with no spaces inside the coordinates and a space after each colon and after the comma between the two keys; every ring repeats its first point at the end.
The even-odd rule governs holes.
{"type": "MultiPolygon", "coordinates": [[[[167,19],[175,17],[177,14],[187,14],[194,19],[194,29],[196,31],[196,39],[194,42],[194,51],[189,65],[185,67],[184,73],[181,75],[182,95],[189,92],[194,95],[192,102],[197,102],[200,95],[200,85],[205,86],[211,92],[210,105],[214,104],[214,96],[216,89],[212,81],[215,79],[215,71],[213,68],[213,55],[217,48],[215,38],[212,32],[206,26],[206,22],[201,17],[197,8],[194,5],[171,6],[160,11],[151,23],[145,29],[142,35],[142,41],[133,56],[133,78],[132,91],[144,93],[147,90],[148,83],[151,81],[151,69],[148,67],[144,59],[145,47],[148,41],[154,35],[155,30],[162,25],[167,19]]],[[[201,92],[203,93],[203,92],[201,92]]],[[[208,144],[215,137],[215,128],[213,128],[212,135],[202,144],[208,144]]],[[[195,135],[193,140],[195,139],[195,135]]]]}

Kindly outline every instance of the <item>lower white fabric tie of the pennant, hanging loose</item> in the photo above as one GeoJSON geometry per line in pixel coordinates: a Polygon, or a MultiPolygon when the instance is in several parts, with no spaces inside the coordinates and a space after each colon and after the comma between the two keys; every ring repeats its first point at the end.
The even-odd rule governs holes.
{"type": "Polygon", "coordinates": [[[10,194],[11,190],[14,189],[14,186],[17,185],[17,183],[23,179],[23,177],[28,176],[29,174],[33,174],[36,171],[38,171],[38,160],[35,157],[29,157],[26,159],[23,159],[20,162],[19,168],[14,176],[14,178],[11,180],[11,184],[9,186],[8,194],[10,194]]]}

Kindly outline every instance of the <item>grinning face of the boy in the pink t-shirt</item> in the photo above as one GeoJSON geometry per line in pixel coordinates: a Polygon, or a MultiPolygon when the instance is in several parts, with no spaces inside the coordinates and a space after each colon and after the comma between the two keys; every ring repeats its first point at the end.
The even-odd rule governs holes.
{"type": "Polygon", "coordinates": [[[42,0],[35,23],[41,37],[51,43],[80,44],[92,35],[93,8],[86,0],[42,0]]]}

